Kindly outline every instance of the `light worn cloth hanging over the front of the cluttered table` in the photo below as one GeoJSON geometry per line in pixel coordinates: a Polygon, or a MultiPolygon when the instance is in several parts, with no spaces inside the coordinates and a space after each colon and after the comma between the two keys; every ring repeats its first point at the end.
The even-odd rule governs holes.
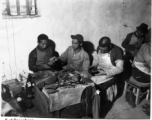
{"type": "Polygon", "coordinates": [[[58,88],[59,92],[54,94],[48,94],[45,88],[42,92],[49,98],[49,110],[53,112],[80,103],[82,92],[88,86],[94,86],[94,83],[78,84],[71,88],[58,88]]]}

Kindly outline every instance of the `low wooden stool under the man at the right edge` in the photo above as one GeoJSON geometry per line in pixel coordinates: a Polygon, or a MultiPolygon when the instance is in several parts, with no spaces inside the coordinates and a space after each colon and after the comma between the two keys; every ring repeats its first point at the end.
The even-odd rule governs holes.
{"type": "Polygon", "coordinates": [[[128,81],[125,81],[125,87],[124,87],[124,92],[123,96],[126,97],[127,91],[130,91],[128,88],[129,86],[133,87],[133,93],[136,96],[136,101],[135,104],[139,104],[140,98],[146,94],[146,100],[149,99],[150,96],[150,83],[141,83],[136,81],[133,77],[130,77],[128,81]],[[145,92],[141,92],[141,88],[148,88],[145,92]]]}

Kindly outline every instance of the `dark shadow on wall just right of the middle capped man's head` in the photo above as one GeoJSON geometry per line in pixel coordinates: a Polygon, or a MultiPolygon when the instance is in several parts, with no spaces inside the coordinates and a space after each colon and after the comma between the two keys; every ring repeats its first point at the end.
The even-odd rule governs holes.
{"type": "Polygon", "coordinates": [[[93,43],[90,41],[84,41],[83,48],[89,54],[90,65],[92,65],[92,61],[93,61],[92,53],[95,51],[93,43]]]}

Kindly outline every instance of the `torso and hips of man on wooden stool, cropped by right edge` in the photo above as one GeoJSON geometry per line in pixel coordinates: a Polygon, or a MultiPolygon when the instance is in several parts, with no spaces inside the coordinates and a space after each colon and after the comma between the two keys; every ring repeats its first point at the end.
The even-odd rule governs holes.
{"type": "Polygon", "coordinates": [[[151,45],[145,43],[139,49],[133,61],[132,76],[142,83],[150,83],[151,75],[151,45]]]}

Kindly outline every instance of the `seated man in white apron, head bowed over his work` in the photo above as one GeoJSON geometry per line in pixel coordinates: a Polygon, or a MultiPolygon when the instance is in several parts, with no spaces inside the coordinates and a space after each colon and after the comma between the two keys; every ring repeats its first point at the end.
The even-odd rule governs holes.
{"type": "MultiPolygon", "coordinates": [[[[117,94],[117,86],[115,85],[114,76],[121,73],[123,71],[123,53],[121,48],[111,43],[110,38],[102,37],[99,40],[99,46],[97,48],[97,52],[93,54],[93,64],[90,67],[91,69],[97,69],[98,74],[92,76],[91,79],[96,83],[97,88],[101,91],[101,94],[107,93],[107,99],[112,101],[113,95],[111,95],[111,91],[109,92],[112,85],[115,93],[117,94]]],[[[101,95],[100,94],[100,95],[101,95]]]]}

